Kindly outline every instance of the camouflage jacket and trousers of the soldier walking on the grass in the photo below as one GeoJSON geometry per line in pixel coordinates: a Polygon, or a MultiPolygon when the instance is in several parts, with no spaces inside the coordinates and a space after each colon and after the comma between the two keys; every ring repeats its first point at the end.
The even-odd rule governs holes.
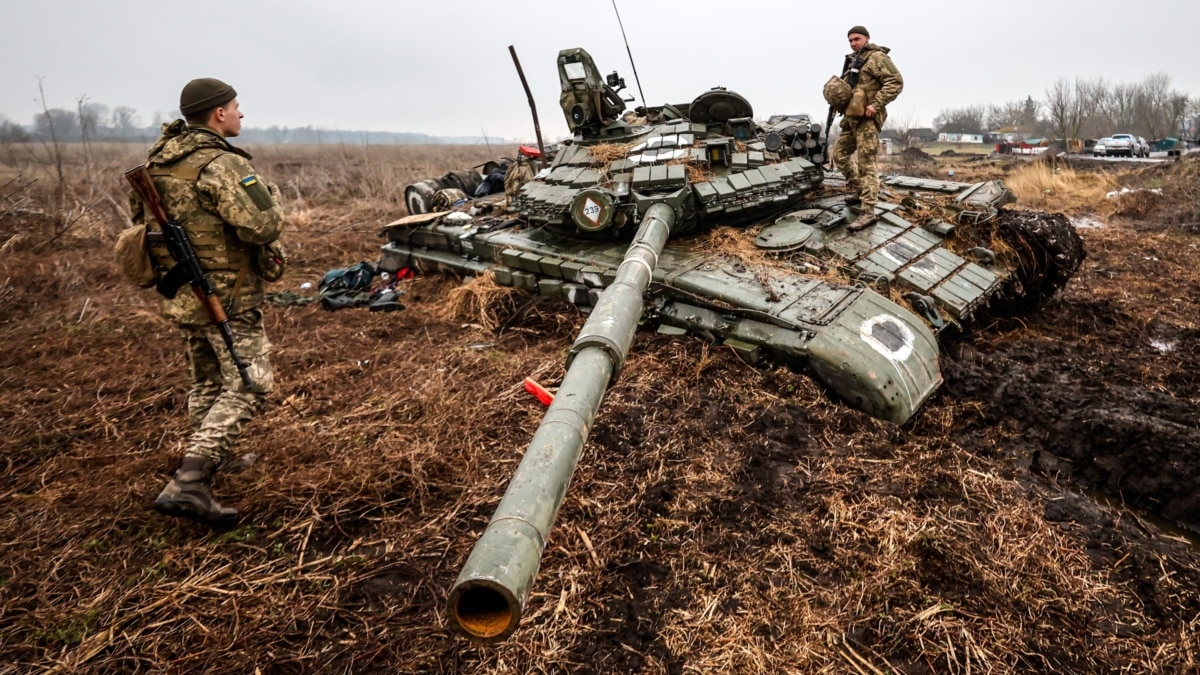
{"type": "MultiPolygon", "coordinates": [[[[224,304],[238,357],[250,363],[254,383],[253,388],[242,383],[220,331],[190,288],[162,299],[160,311],[179,325],[187,346],[192,436],[185,458],[204,458],[212,465],[229,458],[242,425],[274,388],[256,258],[259,246],[278,238],[284,216],[278,187],[263,183],[250,160],[220,133],[176,120],[163,125],[146,161],[167,214],[187,231],[224,304]]],[[[136,196],[132,205],[136,223],[160,229],[136,196]]],[[[174,265],[166,245],[151,245],[150,253],[161,271],[174,265]]]]}

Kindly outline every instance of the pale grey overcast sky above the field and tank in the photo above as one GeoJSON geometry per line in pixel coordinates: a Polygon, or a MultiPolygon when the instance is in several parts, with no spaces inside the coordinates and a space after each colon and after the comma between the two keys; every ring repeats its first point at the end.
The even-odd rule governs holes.
{"type": "MultiPolygon", "coordinates": [[[[80,95],[137,108],[143,124],[179,104],[193,77],[239,91],[248,126],[533,138],[509,58],[534,90],[542,133],[566,133],[554,56],[583,47],[637,96],[610,0],[11,0],[0,23],[0,114],[29,124],[80,95]]],[[[889,109],[928,126],[949,107],[1044,98],[1058,77],[1138,82],[1166,72],[1200,96],[1195,0],[618,0],[650,104],[712,86],[755,115],[824,117],[821,86],[864,24],[892,48],[905,91],[889,109]]]]}

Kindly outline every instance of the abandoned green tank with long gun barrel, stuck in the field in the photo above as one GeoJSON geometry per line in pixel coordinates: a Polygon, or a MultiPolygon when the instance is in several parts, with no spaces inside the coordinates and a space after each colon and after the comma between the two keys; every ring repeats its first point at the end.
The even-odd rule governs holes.
{"type": "MultiPolygon", "coordinates": [[[[1028,312],[1079,268],[1062,216],[1010,211],[998,181],[884,179],[878,223],[823,168],[808,115],[756,121],[738,94],[626,110],[616,72],[558,54],[572,138],[532,180],[384,227],[380,268],[492,275],[589,313],[491,524],[449,595],[452,628],[498,641],[518,626],[551,525],[638,327],[691,334],[749,363],[811,374],[848,405],[904,424],[942,383],[938,336],[984,312],[1028,312]],[[712,252],[736,228],[758,258],[712,252]]],[[[443,199],[442,202],[446,202],[443,199]]]]}

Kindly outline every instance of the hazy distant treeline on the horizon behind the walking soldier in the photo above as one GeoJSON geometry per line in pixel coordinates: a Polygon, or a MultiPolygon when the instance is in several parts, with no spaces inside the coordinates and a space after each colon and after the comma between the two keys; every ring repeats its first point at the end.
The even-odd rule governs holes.
{"type": "MultiPolygon", "coordinates": [[[[151,143],[158,137],[161,123],[143,125],[137,110],[128,106],[109,108],[103,103],[82,102],[78,109],[49,108],[34,115],[34,124],[25,126],[0,115],[0,143],[29,142],[137,142],[151,143]]],[[[482,144],[509,143],[505,138],[482,136],[430,136],[392,131],[344,131],[313,126],[242,127],[240,143],[336,143],[354,145],[420,145],[420,144],[482,144]]]]}

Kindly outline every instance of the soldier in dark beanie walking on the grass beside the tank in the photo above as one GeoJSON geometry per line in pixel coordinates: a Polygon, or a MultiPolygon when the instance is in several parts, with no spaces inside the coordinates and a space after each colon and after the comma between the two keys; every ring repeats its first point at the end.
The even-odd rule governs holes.
{"type": "MultiPolygon", "coordinates": [[[[217,327],[193,293],[182,288],[174,298],[162,299],[160,311],[179,325],[187,350],[192,435],[154,509],[210,526],[238,519],[235,509],[214,498],[211,480],[222,464],[228,466],[234,441],[274,386],[268,358],[271,344],[259,309],[264,299],[262,249],[274,246],[284,226],[278,187],[259,178],[250,154],[227,141],[241,131],[236,96],[233,86],[218,79],[187,83],[179,98],[186,121],[163,125],[146,160],[168,216],[187,232],[226,307],[236,353],[248,362],[253,382],[252,387],[242,383],[217,327]]],[[[151,231],[157,229],[136,195],[132,209],[134,223],[148,222],[151,231]]],[[[149,250],[156,269],[175,264],[166,246],[150,245],[149,250]]]]}

